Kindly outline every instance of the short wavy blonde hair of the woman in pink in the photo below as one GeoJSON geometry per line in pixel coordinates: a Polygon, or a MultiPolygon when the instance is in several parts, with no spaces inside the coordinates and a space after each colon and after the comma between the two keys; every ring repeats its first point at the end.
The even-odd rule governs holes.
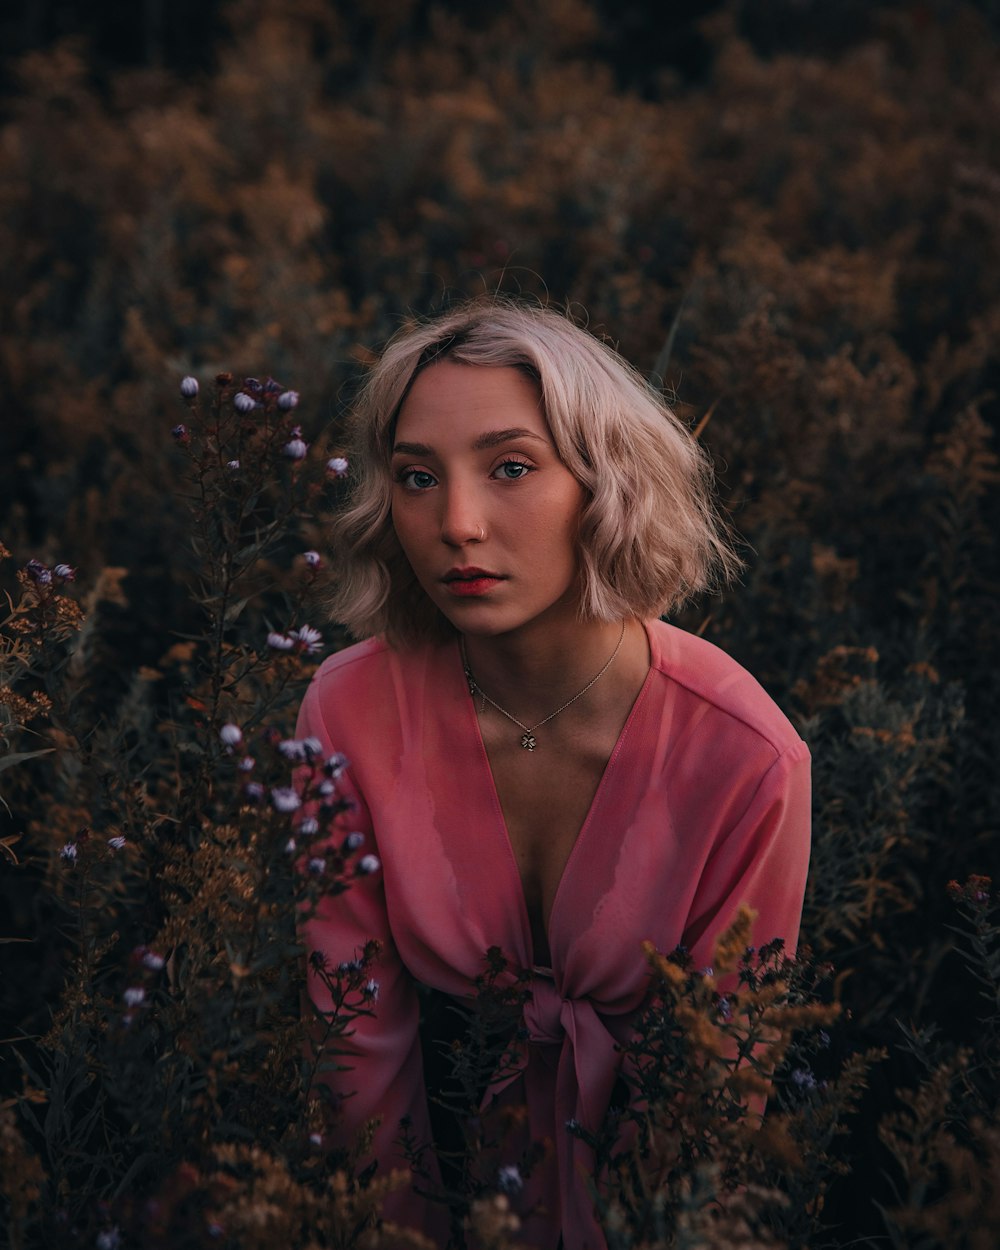
{"type": "Polygon", "coordinates": [[[334,522],[335,620],[392,646],[454,636],[416,580],[392,526],[396,420],[418,374],[448,359],[510,366],[541,391],[560,459],[586,490],[580,616],[646,620],[740,566],[712,502],[711,462],[688,429],[608,344],[549,308],[470,300],[390,339],[350,421],[352,492],[334,522]]]}

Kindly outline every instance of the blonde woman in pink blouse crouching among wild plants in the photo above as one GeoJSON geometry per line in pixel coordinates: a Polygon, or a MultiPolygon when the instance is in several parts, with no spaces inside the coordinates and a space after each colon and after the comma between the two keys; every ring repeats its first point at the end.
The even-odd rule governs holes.
{"type": "Polygon", "coordinates": [[[468,998],[499,946],[532,979],[491,1092],[550,1142],[519,1235],[598,1250],[566,1121],[601,1124],[641,942],[708,964],[745,902],[759,940],[794,945],[809,755],[749,674],[660,620],[736,560],[706,458],[608,346],[550,310],[464,305],[389,344],[355,434],[336,615],[366,641],[320,668],[298,729],[346,755],[350,828],[382,862],[306,929],[332,964],[382,944],[342,1132],[381,1116],[386,1171],[405,1116],[429,1139],[415,982],[468,998]]]}

